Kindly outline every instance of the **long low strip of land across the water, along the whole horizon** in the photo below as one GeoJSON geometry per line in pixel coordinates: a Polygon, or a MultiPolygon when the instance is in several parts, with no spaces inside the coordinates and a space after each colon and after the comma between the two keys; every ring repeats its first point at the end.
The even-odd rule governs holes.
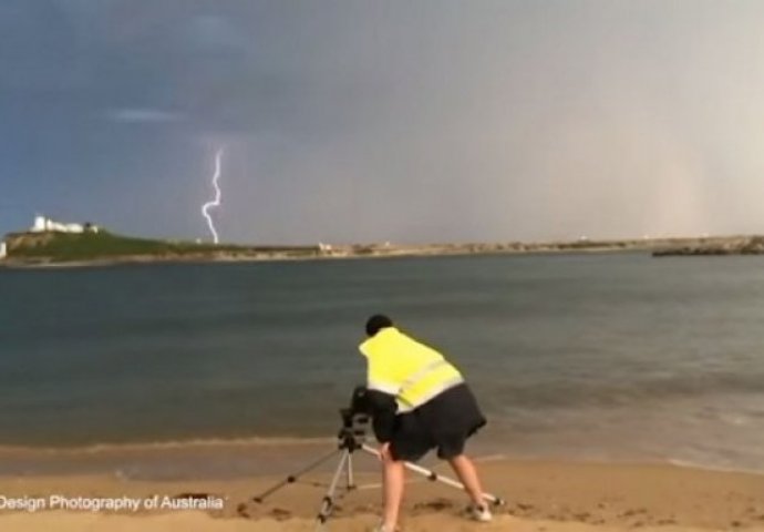
{"type": "Polygon", "coordinates": [[[288,259],[319,257],[394,257],[435,255],[483,255],[516,253],[648,252],[654,256],[763,254],[763,236],[724,236],[702,238],[657,238],[628,241],[574,241],[551,243],[473,243],[390,246],[239,246],[157,241],[99,233],[16,233],[7,235],[4,266],[58,264],[111,264],[159,262],[209,262],[288,259]]]}

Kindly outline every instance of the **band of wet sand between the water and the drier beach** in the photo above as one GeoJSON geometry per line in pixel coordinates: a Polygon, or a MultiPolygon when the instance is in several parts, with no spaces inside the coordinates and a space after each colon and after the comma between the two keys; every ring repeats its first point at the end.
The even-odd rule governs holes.
{"type": "MultiPolygon", "coordinates": [[[[369,441],[374,446],[373,441],[369,441]]],[[[236,481],[252,474],[273,474],[290,464],[304,464],[337,448],[334,438],[238,438],[156,441],[145,443],[97,443],[81,447],[0,446],[0,479],[8,477],[75,478],[81,474],[118,477],[128,481],[169,481],[207,479],[236,481]]],[[[695,471],[756,475],[764,479],[764,468],[744,464],[719,464],[672,456],[642,453],[531,452],[476,442],[471,456],[479,460],[503,460],[514,463],[562,462],[622,467],[670,467],[695,471]]],[[[368,471],[375,461],[361,454],[357,468],[368,471]]],[[[438,463],[430,453],[422,463],[438,463]]]]}

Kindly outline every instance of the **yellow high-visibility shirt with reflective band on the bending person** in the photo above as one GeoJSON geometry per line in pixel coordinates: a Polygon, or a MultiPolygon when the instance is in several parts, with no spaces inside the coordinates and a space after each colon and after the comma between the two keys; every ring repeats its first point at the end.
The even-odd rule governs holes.
{"type": "Polygon", "coordinates": [[[435,349],[385,327],[359,346],[366,357],[366,387],[395,396],[398,413],[421,407],[462,382],[462,374],[435,349]]]}

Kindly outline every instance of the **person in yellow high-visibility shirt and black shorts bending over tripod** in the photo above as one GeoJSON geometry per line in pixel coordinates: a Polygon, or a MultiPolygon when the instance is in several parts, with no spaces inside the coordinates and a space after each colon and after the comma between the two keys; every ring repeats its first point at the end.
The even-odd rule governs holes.
{"type": "Polygon", "coordinates": [[[365,329],[368,338],[359,349],[368,361],[368,398],[383,463],[384,513],[378,532],[395,531],[403,462],[435,448],[472,499],[472,516],[491,521],[477,471],[464,454],[467,438],[486,420],[461,372],[435,349],[398,330],[386,316],[372,316],[365,329]]]}

